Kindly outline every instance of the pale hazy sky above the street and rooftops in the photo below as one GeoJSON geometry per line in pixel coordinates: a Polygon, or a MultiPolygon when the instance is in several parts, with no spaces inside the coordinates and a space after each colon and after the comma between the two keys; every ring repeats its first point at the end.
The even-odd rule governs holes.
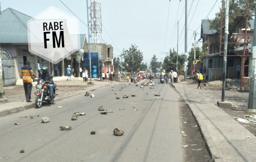
{"type": "MultiPolygon", "coordinates": [[[[85,24],[87,24],[86,0],[62,0],[85,24]]],[[[90,0],[88,0],[90,3],[90,0]]],[[[201,20],[213,19],[220,10],[221,0],[188,1],[188,52],[192,47],[193,31],[200,38],[201,20]],[[214,6],[215,4],[215,6],[214,6]],[[214,6],[214,7],[213,7],[214,6]],[[213,7],[213,8],[212,8],[213,7]],[[206,17],[210,12],[209,16],[206,17]],[[194,13],[194,14],[193,14],[194,13]]],[[[0,0],[2,11],[13,8],[31,17],[50,6],[72,14],[60,0],[0,0]]],[[[185,52],[185,0],[101,0],[103,42],[113,46],[114,57],[123,49],[136,44],[143,53],[144,62],[150,63],[155,54],[163,61],[166,52],[177,50],[177,21],[179,20],[179,54],[185,52]],[[168,14],[169,8],[169,14],[168,14]],[[167,23],[168,22],[168,23],[167,23]]],[[[80,22],[80,33],[88,34],[87,25],[80,22]]],[[[88,40],[87,40],[88,41],[88,40]]],[[[202,46],[199,42],[198,46],[202,46]]]]}

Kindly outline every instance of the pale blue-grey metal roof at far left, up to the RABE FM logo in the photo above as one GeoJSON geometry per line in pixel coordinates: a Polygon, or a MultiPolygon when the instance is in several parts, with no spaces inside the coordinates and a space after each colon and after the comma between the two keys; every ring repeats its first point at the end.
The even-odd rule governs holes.
{"type": "Polygon", "coordinates": [[[0,15],[0,43],[28,43],[27,21],[32,17],[7,8],[0,15]]]}

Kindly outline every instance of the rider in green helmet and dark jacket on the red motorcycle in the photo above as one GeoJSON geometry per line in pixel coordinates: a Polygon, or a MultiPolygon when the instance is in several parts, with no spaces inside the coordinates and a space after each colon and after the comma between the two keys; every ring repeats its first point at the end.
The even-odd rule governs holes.
{"type": "Polygon", "coordinates": [[[53,76],[51,75],[51,74],[49,74],[48,73],[48,68],[46,67],[46,66],[43,66],[42,68],[41,68],[41,76],[39,77],[39,79],[38,79],[38,84],[39,84],[39,81],[41,80],[41,79],[43,79],[44,81],[49,81],[49,86],[48,86],[48,88],[49,88],[49,94],[50,94],[50,96],[49,96],[49,99],[48,100],[51,100],[52,99],[52,97],[53,97],[53,84],[54,84],[54,82],[53,82],[53,76]]]}

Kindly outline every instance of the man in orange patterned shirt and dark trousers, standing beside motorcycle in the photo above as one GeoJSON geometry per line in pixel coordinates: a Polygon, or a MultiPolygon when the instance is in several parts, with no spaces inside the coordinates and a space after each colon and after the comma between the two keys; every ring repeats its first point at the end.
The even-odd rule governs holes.
{"type": "Polygon", "coordinates": [[[26,102],[31,102],[31,89],[32,89],[32,81],[34,81],[33,70],[30,67],[30,62],[25,61],[25,64],[20,69],[20,77],[23,80],[23,87],[26,96],[26,102]]]}

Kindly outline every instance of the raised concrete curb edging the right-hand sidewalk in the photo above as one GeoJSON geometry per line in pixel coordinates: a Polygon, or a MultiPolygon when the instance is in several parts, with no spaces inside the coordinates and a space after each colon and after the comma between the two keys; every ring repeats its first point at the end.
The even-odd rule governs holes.
{"type": "MultiPolygon", "coordinates": [[[[176,87],[173,84],[171,84],[171,86],[174,87],[174,89],[180,94],[180,92],[176,89],[176,87]]],[[[190,109],[192,116],[195,118],[195,121],[198,125],[198,129],[200,131],[200,134],[202,135],[203,140],[205,141],[205,146],[208,151],[208,154],[210,155],[210,158],[212,159],[212,162],[223,162],[222,158],[220,157],[218,149],[215,147],[214,142],[210,138],[209,132],[207,131],[207,129],[202,130],[202,127],[204,126],[203,121],[201,121],[200,117],[198,117],[198,115],[195,114],[195,112],[193,112],[193,105],[186,101],[183,97],[182,99],[186,102],[186,105],[190,109]]]]}

